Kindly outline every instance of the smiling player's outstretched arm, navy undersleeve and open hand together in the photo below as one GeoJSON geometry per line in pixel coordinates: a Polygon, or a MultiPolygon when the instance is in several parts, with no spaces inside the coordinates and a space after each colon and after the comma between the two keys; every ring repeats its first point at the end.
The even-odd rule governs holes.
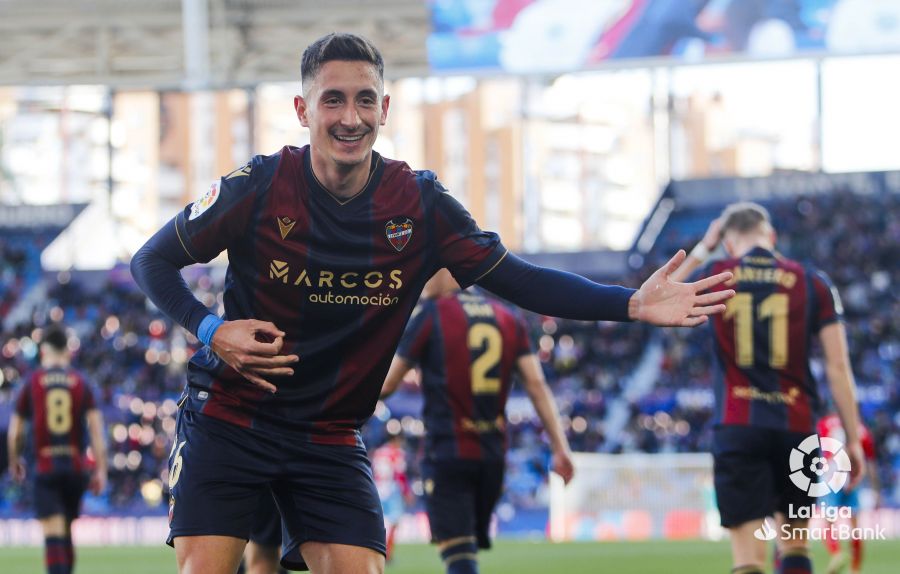
{"type": "Polygon", "coordinates": [[[727,281],[731,273],[720,273],[696,283],[677,283],[669,275],[683,259],[684,252],[680,251],[635,291],[538,267],[509,253],[478,284],[520,307],[564,319],[699,325],[706,321],[707,315],[723,312],[725,305],[718,303],[734,295],[734,291],[699,293],[727,281]]]}

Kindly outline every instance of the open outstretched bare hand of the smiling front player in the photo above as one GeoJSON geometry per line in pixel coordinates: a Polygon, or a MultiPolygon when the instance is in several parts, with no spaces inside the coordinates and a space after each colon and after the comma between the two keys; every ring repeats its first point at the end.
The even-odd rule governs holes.
{"type": "Polygon", "coordinates": [[[731,279],[729,271],[694,283],[673,281],[670,275],[684,262],[680,249],[668,263],[656,270],[628,301],[628,317],[663,327],[696,327],[709,315],[725,311],[724,302],[734,296],[733,289],[701,293],[731,279]]]}

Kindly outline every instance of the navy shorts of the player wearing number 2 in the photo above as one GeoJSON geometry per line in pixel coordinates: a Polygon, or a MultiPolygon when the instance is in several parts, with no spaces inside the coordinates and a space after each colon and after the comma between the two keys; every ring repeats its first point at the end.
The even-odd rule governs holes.
{"type": "Polygon", "coordinates": [[[503,461],[426,460],[425,509],[431,541],[474,536],[478,547],[491,547],[494,506],[503,493],[503,461]]]}

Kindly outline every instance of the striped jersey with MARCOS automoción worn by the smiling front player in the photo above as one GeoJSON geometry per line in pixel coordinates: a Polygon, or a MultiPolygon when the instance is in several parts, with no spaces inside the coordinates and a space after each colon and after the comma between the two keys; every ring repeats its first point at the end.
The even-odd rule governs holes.
{"type": "Polygon", "coordinates": [[[425,282],[463,284],[506,254],[430,171],[372,154],[364,189],[340,200],[316,180],[309,147],[256,156],[176,217],[198,262],[228,254],[225,318],[271,321],[300,362],[278,392],[243,380],[209,348],[188,366],[187,408],[332,444],[360,442],[425,282]]]}

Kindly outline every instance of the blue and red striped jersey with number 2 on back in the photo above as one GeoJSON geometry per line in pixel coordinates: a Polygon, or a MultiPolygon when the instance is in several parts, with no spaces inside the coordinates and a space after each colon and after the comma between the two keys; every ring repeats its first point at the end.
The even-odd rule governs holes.
{"type": "Polygon", "coordinates": [[[522,317],[494,299],[461,291],[424,301],[397,353],[422,369],[426,456],[503,460],[516,360],[532,352],[522,317]]]}

